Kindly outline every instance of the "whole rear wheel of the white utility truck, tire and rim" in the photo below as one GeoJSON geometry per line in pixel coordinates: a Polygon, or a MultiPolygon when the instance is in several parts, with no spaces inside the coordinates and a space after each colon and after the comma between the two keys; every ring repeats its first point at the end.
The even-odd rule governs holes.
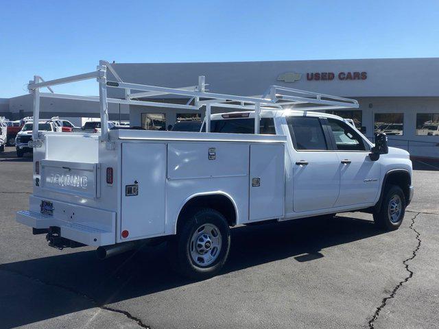
{"type": "Polygon", "coordinates": [[[230,250],[230,228],[224,216],[204,208],[192,212],[180,232],[167,242],[171,267],[183,276],[204,280],[224,266],[230,250]]]}

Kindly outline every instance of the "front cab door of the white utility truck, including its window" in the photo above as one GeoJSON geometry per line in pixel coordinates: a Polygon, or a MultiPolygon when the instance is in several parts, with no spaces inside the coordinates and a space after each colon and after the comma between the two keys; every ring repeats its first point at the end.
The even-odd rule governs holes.
{"type": "Polygon", "coordinates": [[[370,149],[347,123],[325,119],[340,166],[340,195],[335,206],[375,202],[379,191],[381,165],[369,158],[370,149]]]}

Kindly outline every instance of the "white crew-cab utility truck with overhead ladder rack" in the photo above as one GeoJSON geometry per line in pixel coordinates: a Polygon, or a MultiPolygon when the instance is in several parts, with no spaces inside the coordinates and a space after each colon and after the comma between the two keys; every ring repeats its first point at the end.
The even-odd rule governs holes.
{"type": "Polygon", "coordinates": [[[95,246],[99,258],[166,240],[172,267],[195,279],[222,268],[233,226],[360,210],[385,230],[399,228],[413,195],[409,154],[388,147],[383,134],[372,145],[340,117],[315,112],[358,108],[357,101],[281,86],[259,96],[205,86],[204,77],[181,88],[123,82],[106,61],[73,77],[36,76],[28,86],[34,191],[16,220],[47,234],[53,247],[95,246]],[[99,97],[40,92],[91,78],[99,97]],[[108,98],[107,88],[121,88],[126,97],[108,98]],[[151,99],[164,95],[189,101],[151,99]],[[99,101],[102,131],[38,132],[40,97],[99,101]],[[204,108],[206,115],[202,132],[108,130],[110,102],[204,108]],[[224,113],[211,114],[211,107],[224,113]]]}

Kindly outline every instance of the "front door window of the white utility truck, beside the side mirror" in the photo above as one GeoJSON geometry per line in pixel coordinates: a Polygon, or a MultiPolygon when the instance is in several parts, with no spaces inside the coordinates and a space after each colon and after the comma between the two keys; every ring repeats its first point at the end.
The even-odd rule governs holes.
{"type": "Polygon", "coordinates": [[[337,150],[366,151],[363,138],[353,130],[351,125],[337,119],[328,119],[337,150]]]}

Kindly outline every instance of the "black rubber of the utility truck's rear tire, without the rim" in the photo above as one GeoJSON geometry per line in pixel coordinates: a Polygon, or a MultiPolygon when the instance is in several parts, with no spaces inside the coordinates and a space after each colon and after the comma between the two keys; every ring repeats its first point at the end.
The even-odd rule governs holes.
{"type": "MultiPolygon", "coordinates": [[[[167,241],[167,253],[169,263],[174,271],[177,271],[182,276],[191,278],[193,280],[205,280],[215,276],[224,266],[230,251],[230,228],[224,216],[216,210],[209,208],[201,208],[191,212],[186,218],[181,218],[184,223],[179,229],[176,236],[173,236],[167,241]],[[193,259],[191,250],[195,250],[193,245],[194,236],[196,232],[207,225],[215,226],[220,233],[217,241],[221,241],[221,247],[217,248],[218,254],[215,255],[215,260],[209,265],[202,266],[193,259]]],[[[201,234],[201,233],[200,233],[201,234]]],[[[215,232],[217,234],[217,232],[215,232]]],[[[213,235],[215,236],[215,235],[213,235]]],[[[197,238],[198,239],[198,238],[197,238]]],[[[198,241],[198,240],[196,240],[198,241]]],[[[211,241],[212,242],[212,241],[211,241]]],[[[200,245],[200,244],[199,244],[200,245]]],[[[213,242],[209,247],[213,246],[213,242]]],[[[211,249],[214,252],[214,249],[211,249]]],[[[202,259],[202,257],[198,258],[202,259]]]]}

